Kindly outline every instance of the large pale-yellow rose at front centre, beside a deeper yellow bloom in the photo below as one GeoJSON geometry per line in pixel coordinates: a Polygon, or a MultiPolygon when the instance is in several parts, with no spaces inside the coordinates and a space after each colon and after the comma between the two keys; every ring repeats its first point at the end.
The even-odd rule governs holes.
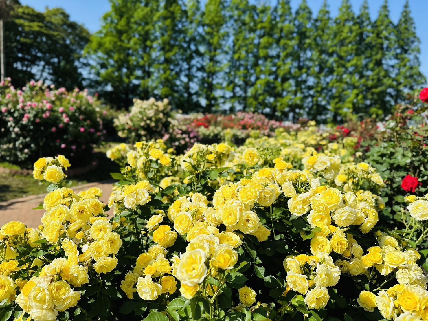
{"type": "Polygon", "coordinates": [[[177,279],[181,284],[193,286],[202,283],[207,275],[208,268],[205,265],[206,253],[201,249],[184,253],[177,267],[177,279]]]}

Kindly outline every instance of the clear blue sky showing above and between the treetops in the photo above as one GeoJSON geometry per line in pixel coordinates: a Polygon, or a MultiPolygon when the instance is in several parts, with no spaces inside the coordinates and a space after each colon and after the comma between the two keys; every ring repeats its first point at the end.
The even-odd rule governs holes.
{"type": "MultiPolygon", "coordinates": [[[[322,0],[307,0],[312,12],[321,8],[322,0]]],[[[333,17],[339,12],[342,0],[327,0],[333,17]]],[[[21,0],[22,4],[32,6],[37,10],[44,10],[46,6],[62,7],[71,16],[71,19],[84,24],[90,32],[100,28],[102,15],[110,10],[108,0],[21,0]]],[[[351,0],[354,12],[358,12],[363,0],[351,0]]],[[[372,19],[377,17],[383,0],[369,0],[372,19]]],[[[405,0],[389,0],[390,18],[394,23],[398,21],[405,0]]],[[[428,77],[428,0],[409,0],[410,10],[416,23],[416,33],[421,39],[421,70],[428,77]]],[[[297,9],[300,0],[291,0],[293,9],[297,9]]]]}

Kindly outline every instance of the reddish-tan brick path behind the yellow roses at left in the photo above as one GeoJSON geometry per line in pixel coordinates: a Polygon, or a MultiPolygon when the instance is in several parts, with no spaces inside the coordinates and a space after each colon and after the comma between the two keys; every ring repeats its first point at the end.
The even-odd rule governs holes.
{"type": "MultiPolygon", "coordinates": [[[[80,192],[87,190],[90,187],[99,187],[103,191],[101,201],[104,203],[108,202],[108,198],[112,192],[113,181],[104,181],[89,183],[83,185],[77,185],[71,187],[74,192],[80,192]]],[[[27,197],[21,197],[19,199],[12,199],[6,202],[0,202],[0,226],[9,221],[20,221],[27,225],[27,227],[37,227],[40,225],[40,219],[42,218],[45,210],[33,210],[43,203],[46,193],[40,195],[31,195],[27,197]]],[[[110,211],[109,211],[110,212],[110,211]]],[[[107,214],[113,214],[109,213],[107,214]]]]}

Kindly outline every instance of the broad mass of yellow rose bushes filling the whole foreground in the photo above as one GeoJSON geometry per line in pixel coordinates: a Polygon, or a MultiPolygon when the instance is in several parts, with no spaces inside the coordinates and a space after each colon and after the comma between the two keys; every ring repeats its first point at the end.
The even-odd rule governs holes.
{"type": "Polygon", "coordinates": [[[427,199],[408,196],[407,229],[387,229],[380,173],[329,135],[113,147],[107,205],[59,181],[37,229],[0,229],[1,306],[23,320],[428,320],[427,199]]]}

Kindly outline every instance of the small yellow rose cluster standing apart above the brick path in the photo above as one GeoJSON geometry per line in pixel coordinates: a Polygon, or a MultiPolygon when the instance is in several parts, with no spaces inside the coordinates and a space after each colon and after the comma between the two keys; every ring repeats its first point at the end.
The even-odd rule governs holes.
{"type": "Polygon", "coordinates": [[[36,179],[56,184],[66,177],[63,169],[66,170],[68,167],[70,167],[70,163],[63,155],[56,158],[39,158],[34,163],[33,176],[36,179]]]}

